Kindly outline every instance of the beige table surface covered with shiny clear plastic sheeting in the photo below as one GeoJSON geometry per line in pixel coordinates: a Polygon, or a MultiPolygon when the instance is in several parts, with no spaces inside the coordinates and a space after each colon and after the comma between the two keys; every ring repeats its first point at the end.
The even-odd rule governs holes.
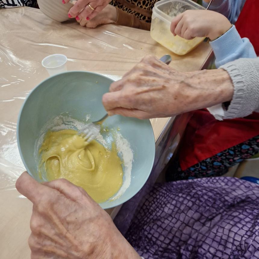
{"type": "MultiPolygon", "coordinates": [[[[74,21],[61,24],[29,7],[0,13],[0,257],[27,259],[32,204],[15,189],[15,181],[24,171],[16,122],[26,96],[48,77],[42,59],[60,53],[68,57],[68,70],[122,76],[149,54],[158,58],[170,54],[170,66],[199,70],[211,48],[202,43],[191,53],[177,56],[151,39],[148,31],[111,24],[87,29],[74,21]]],[[[156,140],[169,119],[151,120],[156,140]]]]}

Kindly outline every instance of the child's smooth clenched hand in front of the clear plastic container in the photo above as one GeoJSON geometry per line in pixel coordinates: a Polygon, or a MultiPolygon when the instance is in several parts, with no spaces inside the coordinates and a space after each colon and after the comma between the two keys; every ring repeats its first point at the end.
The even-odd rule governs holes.
{"type": "Polygon", "coordinates": [[[222,14],[208,10],[187,10],[177,15],[171,22],[174,36],[184,39],[208,37],[217,39],[231,28],[232,24],[222,14]]]}

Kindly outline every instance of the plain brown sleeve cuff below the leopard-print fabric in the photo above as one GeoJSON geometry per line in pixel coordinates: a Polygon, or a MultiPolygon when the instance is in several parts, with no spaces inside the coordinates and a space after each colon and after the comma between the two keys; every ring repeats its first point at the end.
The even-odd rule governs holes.
{"type": "Polygon", "coordinates": [[[128,14],[117,8],[117,21],[115,24],[127,27],[137,28],[141,30],[150,30],[151,23],[139,20],[134,14],[128,14]]]}

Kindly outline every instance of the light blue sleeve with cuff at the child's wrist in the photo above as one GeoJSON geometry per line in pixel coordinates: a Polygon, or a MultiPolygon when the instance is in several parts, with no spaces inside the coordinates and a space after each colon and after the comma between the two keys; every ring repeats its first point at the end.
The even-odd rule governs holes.
{"type": "Polygon", "coordinates": [[[241,38],[235,25],[218,39],[210,42],[216,67],[239,58],[256,58],[254,47],[247,38],[241,38]]]}

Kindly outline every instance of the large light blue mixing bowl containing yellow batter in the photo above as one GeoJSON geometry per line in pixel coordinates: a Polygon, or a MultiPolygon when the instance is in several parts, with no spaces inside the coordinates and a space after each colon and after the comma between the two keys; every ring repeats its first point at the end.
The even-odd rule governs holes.
{"type": "MultiPolygon", "coordinates": [[[[18,117],[17,142],[24,166],[38,182],[42,180],[34,154],[44,125],[64,113],[80,121],[87,114],[91,114],[89,121],[100,119],[106,113],[101,98],[112,82],[96,73],[65,72],[49,77],[26,98],[18,117]]],[[[130,142],[134,156],[130,186],[116,200],[100,204],[107,209],[129,200],[145,184],[154,163],[155,142],[149,120],[116,115],[108,117],[104,126],[120,128],[121,135],[130,142]]]]}

